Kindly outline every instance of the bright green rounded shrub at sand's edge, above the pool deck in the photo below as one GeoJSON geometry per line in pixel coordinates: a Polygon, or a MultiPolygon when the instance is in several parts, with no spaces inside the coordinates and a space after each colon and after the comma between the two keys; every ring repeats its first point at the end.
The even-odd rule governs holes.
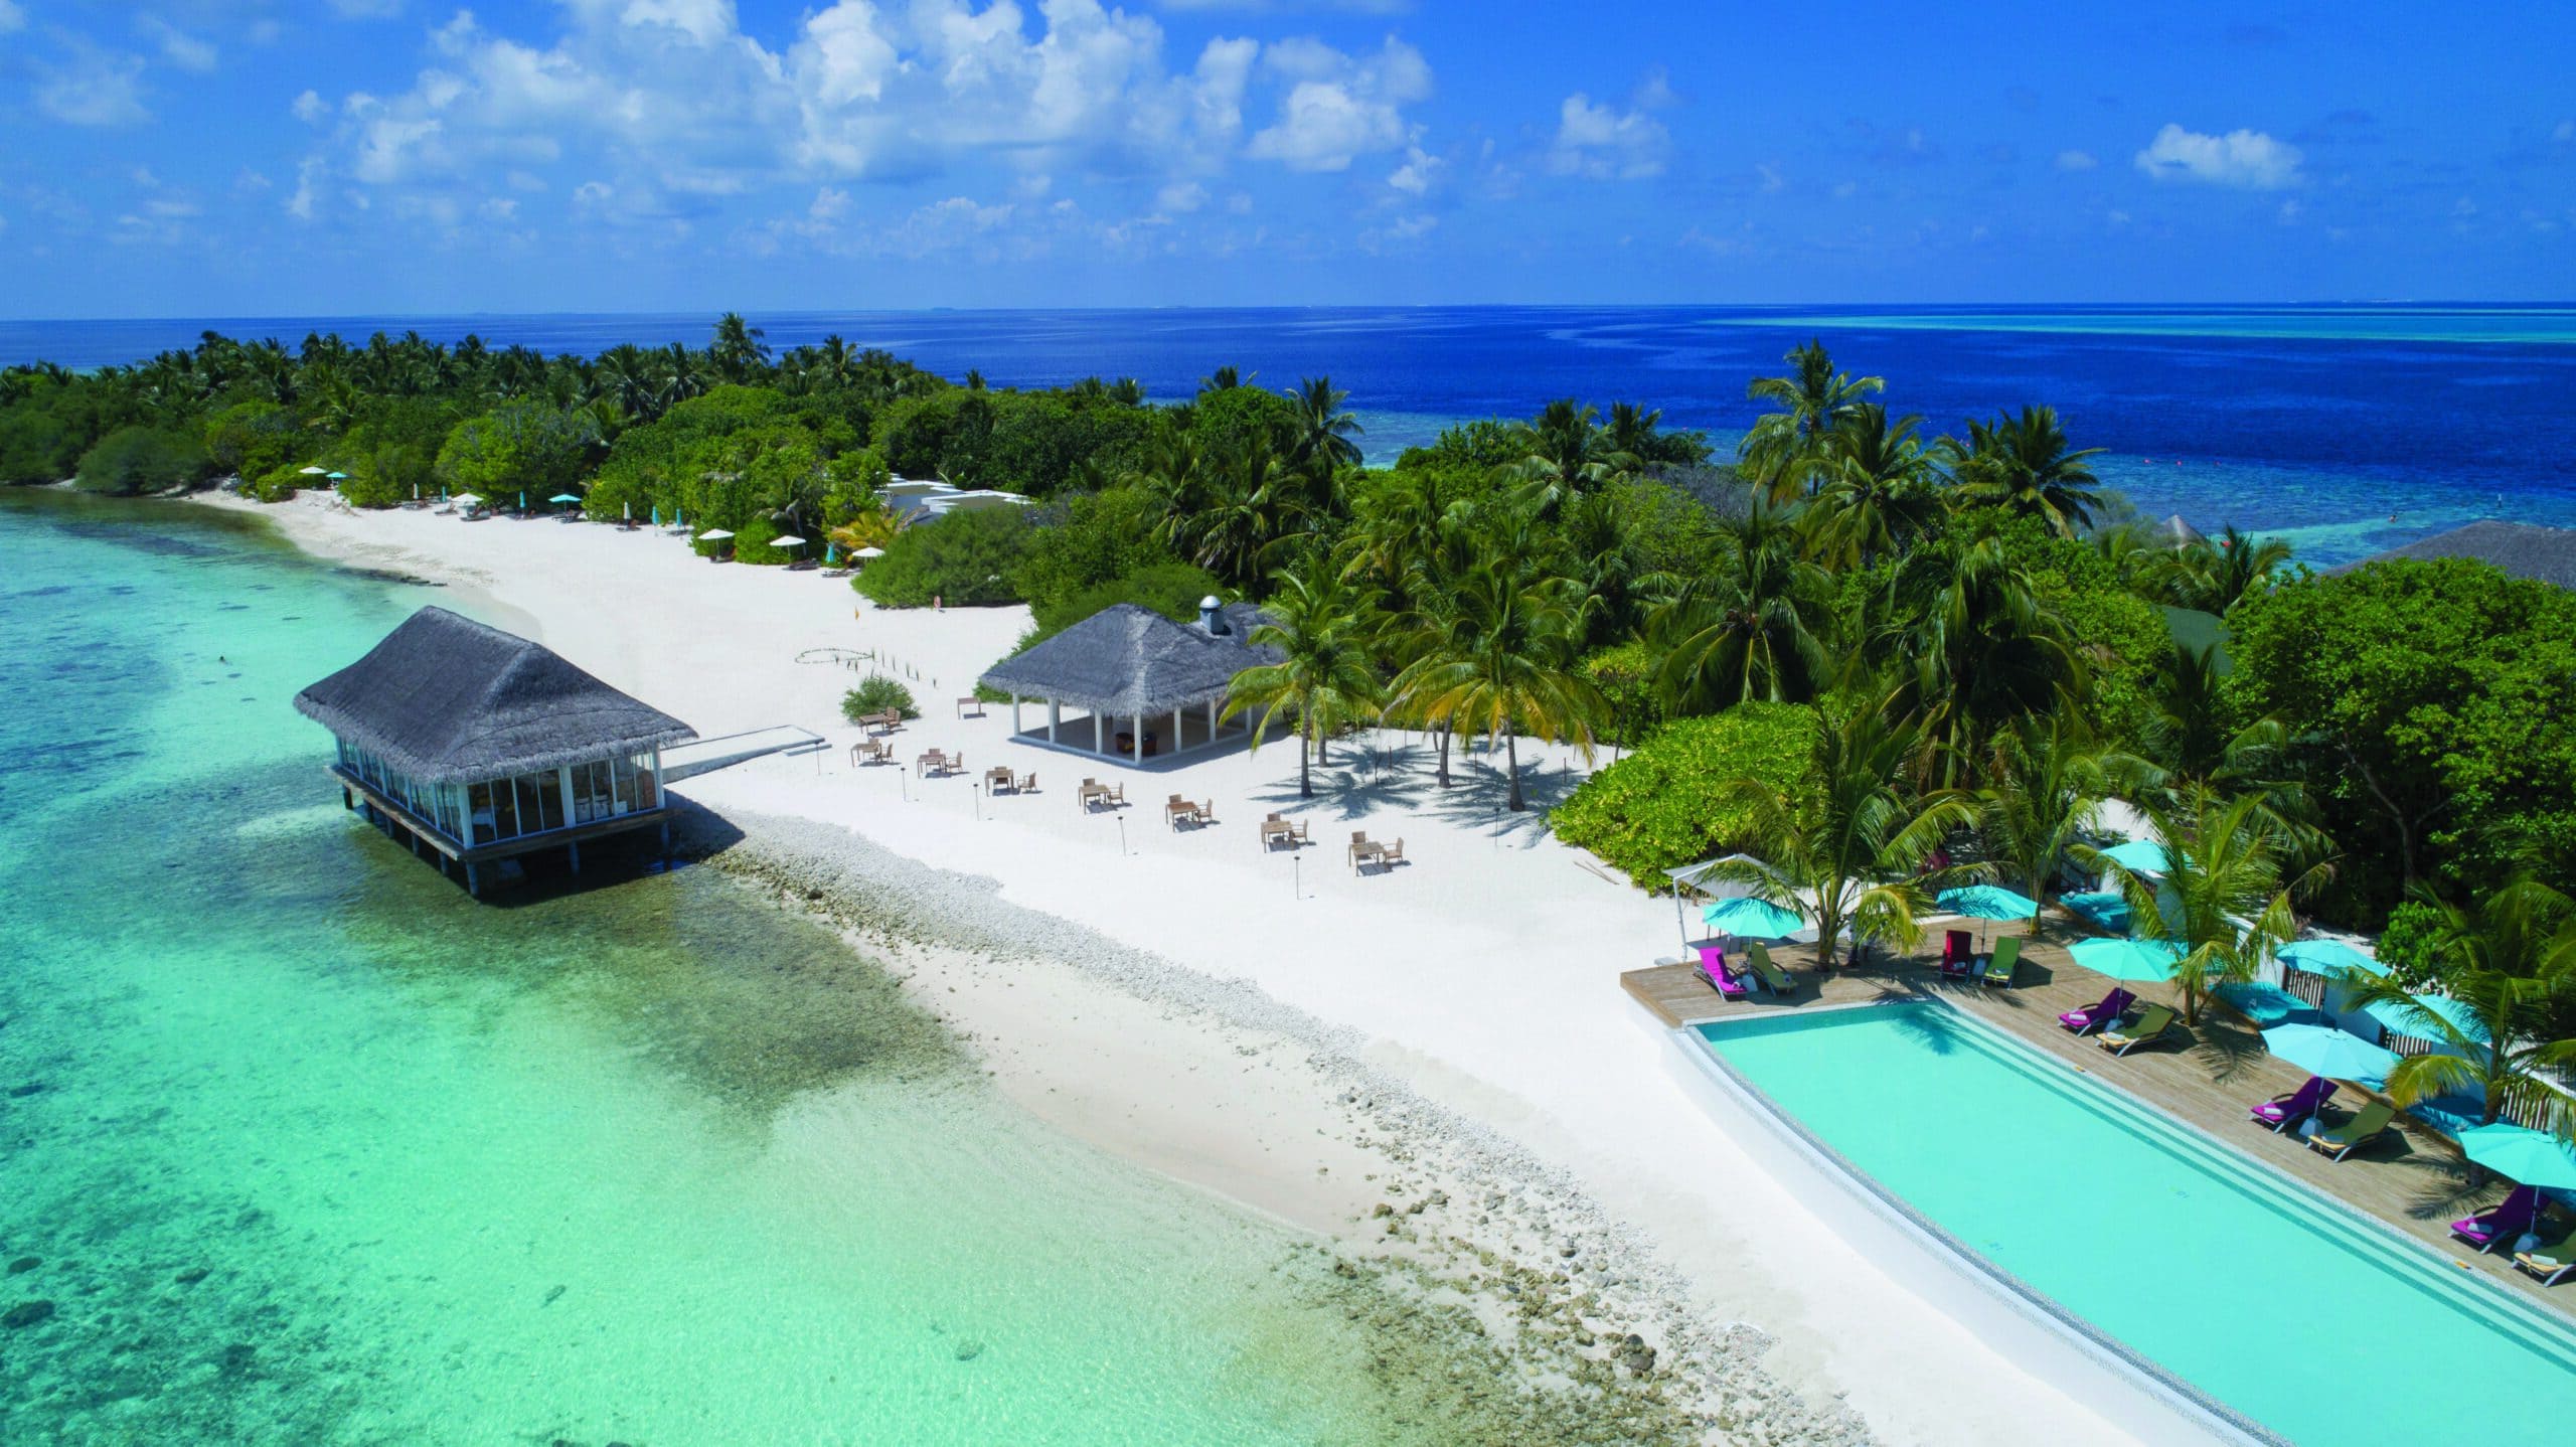
{"type": "Polygon", "coordinates": [[[1798,703],[1739,703],[1726,713],[1674,718],[1638,752],[1584,780],[1548,824],[1641,888],[1664,888],[1664,870],[1752,847],[1752,811],[1731,798],[1734,780],[1795,793],[1808,775],[1814,729],[1814,711],[1798,703]]]}

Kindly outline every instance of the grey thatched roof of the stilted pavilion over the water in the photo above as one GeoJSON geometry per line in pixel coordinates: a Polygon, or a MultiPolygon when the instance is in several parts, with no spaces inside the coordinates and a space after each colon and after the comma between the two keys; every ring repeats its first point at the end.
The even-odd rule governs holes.
{"type": "Polygon", "coordinates": [[[471,783],[696,739],[556,651],[422,608],[296,711],[422,783],[471,783]]]}

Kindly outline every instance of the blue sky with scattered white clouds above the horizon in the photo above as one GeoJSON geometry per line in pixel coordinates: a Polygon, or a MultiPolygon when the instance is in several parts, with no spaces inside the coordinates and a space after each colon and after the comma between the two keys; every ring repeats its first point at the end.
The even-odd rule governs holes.
{"type": "Polygon", "coordinates": [[[2576,8],[0,0],[0,314],[2568,299],[2576,8]]]}

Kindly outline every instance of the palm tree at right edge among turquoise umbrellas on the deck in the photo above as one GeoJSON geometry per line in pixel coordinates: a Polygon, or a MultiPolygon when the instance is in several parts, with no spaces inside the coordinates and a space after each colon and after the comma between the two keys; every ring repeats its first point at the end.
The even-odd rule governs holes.
{"type": "Polygon", "coordinates": [[[2576,1102],[2548,1081],[2576,1069],[2576,1040],[2548,1038],[2576,1007],[2576,901],[2527,875],[2476,909],[2421,888],[2419,899],[2439,911],[2442,991],[2468,1009],[2465,1020],[2452,1020],[2385,976],[2354,981],[2352,1007],[2383,1007],[2411,1035],[2447,1045],[2398,1061],[2388,1071],[2388,1097],[2414,1105],[2476,1094],[2481,1125],[2512,1110],[2527,1125],[2576,1141],[2576,1102]]]}

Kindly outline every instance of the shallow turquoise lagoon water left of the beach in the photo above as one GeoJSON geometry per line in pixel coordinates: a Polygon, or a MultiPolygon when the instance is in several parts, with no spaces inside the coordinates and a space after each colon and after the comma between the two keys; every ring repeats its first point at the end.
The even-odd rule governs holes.
{"type": "Polygon", "coordinates": [[[706,868],[474,904],[291,713],[430,590],[0,497],[5,1442],[1378,1442],[1311,1251],[706,868]]]}

